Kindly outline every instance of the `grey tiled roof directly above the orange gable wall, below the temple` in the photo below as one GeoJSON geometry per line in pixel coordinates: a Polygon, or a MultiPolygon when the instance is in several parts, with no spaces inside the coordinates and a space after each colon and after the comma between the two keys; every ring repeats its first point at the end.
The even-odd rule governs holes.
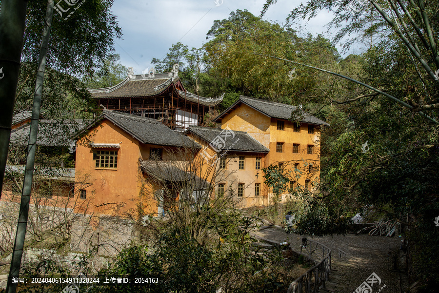
{"type": "Polygon", "coordinates": [[[173,131],[160,121],[148,117],[121,113],[104,109],[102,115],[87,128],[98,124],[102,119],[108,119],[142,143],[164,146],[196,146],[190,138],[180,132],[173,131]]]}

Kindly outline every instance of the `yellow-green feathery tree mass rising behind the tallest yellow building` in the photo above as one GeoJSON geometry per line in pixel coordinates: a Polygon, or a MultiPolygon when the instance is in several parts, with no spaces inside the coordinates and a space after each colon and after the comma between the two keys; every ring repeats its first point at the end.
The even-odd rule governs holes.
{"type": "Polygon", "coordinates": [[[247,10],[215,20],[207,38],[210,40],[204,48],[209,75],[223,79],[225,85],[243,95],[287,103],[299,104],[305,96],[318,96],[319,75],[297,71],[265,55],[328,66],[336,66],[339,59],[327,39],[299,38],[293,29],[261,20],[247,10]]]}

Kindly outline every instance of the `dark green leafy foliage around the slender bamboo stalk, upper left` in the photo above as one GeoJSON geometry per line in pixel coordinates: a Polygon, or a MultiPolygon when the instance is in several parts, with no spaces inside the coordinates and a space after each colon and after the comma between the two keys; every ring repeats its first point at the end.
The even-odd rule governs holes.
{"type": "MultiPolygon", "coordinates": [[[[115,39],[121,37],[116,17],[110,11],[112,5],[112,0],[83,1],[68,19],[66,13],[61,17],[55,12],[41,101],[46,117],[73,117],[77,105],[81,105],[82,113],[91,116],[96,110],[95,101],[82,80],[94,76],[104,60],[111,57],[115,39]]],[[[15,113],[32,108],[40,54],[40,47],[35,44],[41,43],[46,6],[46,0],[31,1],[28,5],[15,113]]]]}

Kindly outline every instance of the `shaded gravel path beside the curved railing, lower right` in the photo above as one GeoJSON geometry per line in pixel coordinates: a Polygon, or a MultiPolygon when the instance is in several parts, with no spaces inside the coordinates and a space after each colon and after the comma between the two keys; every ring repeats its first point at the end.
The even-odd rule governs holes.
{"type": "MultiPolygon", "coordinates": [[[[278,226],[279,227],[279,226],[278,226]]],[[[270,227],[257,232],[258,236],[283,242],[290,240],[293,249],[298,250],[301,236],[286,234],[283,230],[270,227]]],[[[369,236],[368,234],[346,234],[308,237],[332,250],[332,274],[330,277],[333,286],[330,291],[335,293],[353,293],[362,282],[376,273],[381,284],[372,287],[372,293],[405,293],[408,287],[407,275],[401,261],[401,238],[369,236]],[[345,257],[338,257],[338,249],[346,253],[345,257]]]]}

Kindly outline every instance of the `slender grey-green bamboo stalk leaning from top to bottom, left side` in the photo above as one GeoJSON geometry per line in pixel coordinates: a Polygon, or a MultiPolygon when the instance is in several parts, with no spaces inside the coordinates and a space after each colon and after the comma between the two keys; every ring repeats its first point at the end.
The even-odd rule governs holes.
{"type": "Polygon", "coordinates": [[[38,64],[37,80],[35,83],[34,105],[27,147],[26,170],[24,171],[23,192],[21,194],[20,215],[15,236],[14,250],[12,251],[11,268],[9,270],[6,293],[15,293],[17,284],[12,278],[20,273],[21,256],[23,254],[24,237],[26,235],[27,220],[29,215],[29,202],[32,190],[32,177],[34,175],[35,152],[37,148],[38,123],[40,120],[41,94],[44,83],[44,68],[46,66],[47,47],[49,44],[50,30],[52,27],[54,0],[47,1],[46,20],[40,49],[40,61],[38,64]]]}

